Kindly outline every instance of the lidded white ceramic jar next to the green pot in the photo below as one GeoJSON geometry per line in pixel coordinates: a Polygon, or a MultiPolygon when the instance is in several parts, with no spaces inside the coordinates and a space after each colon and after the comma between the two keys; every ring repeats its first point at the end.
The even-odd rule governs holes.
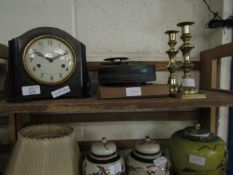
{"type": "Polygon", "coordinates": [[[135,144],[127,158],[128,175],[169,175],[167,158],[162,155],[159,143],[146,137],[135,144]]]}

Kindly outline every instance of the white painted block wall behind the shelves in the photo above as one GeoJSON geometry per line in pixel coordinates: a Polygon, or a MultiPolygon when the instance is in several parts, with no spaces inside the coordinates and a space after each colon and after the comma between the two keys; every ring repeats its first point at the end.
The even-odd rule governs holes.
{"type": "MultiPolygon", "coordinates": [[[[1,0],[0,42],[39,26],[63,29],[86,45],[88,61],[113,56],[131,60],[168,60],[167,36],[182,21],[194,21],[192,60],[210,47],[213,31],[205,28],[211,18],[201,0],[1,0]]],[[[221,37],[221,36],[219,36],[221,37]]],[[[181,41],[178,34],[178,44],[181,41]]],[[[182,60],[181,53],[177,55],[182,60]]],[[[167,81],[167,72],[158,74],[158,83],[167,81]]],[[[198,82],[198,74],[194,77],[198,82]]],[[[169,137],[190,122],[101,122],[72,123],[79,140],[169,137]],[[166,124],[166,131],[161,130],[166,124]],[[121,129],[119,129],[121,128],[121,129]],[[103,132],[104,131],[104,132],[103,132]],[[163,132],[161,132],[163,131],[163,132]],[[106,135],[106,133],[108,133],[106,135]]]]}

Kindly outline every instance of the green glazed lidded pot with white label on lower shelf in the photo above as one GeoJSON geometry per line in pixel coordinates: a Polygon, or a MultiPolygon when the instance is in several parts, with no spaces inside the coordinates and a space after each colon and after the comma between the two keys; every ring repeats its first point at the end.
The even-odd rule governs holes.
{"type": "Polygon", "coordinates": [[[199,126],[175,132],[170,158],[177,175],[224,175],[227,150],[224,141],[199,126]]]}

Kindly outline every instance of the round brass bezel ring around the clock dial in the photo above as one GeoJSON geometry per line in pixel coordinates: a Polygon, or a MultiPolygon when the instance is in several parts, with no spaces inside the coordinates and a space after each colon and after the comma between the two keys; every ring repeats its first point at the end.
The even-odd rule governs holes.
{"type": "Polygon", "coordinates": [[[26,46],[25,48],[23,49],[23,58],[22,58],[22,61],[23,61],[23,67],[25,69],[25,71],[27,72],[27,74],[35,81],[37,81],[38,83],[41,83],[41,84],[45,84],[45,85],[58,85],[58,84],[61,84],[63,82],[65,82],[66,80],[68,80],[74,73],[75,71],[75,68],[76,68],[76,64],[77,64],[77,58],[78,58],[78,55],[75,54],[75,51],[73,49],[73,47],[71,46],[71,44],[69,44],[65,39],[61,38],[61,37],[58,37],[58,36],[54,36],[54,35],[40,35],[38,37],[35,37],[33,38],[26,46]],[[43,39],[43,38],[53,38],[53,39],[56,39],[60,42],[62,42],[63,44],[65,44],[72,52],[72,55],[73,55],[73,69],[72,71],[70,72],[70,74],[68,74],[68,76],[66,76],[64,79],[62,79],[61,81],[57,81],[57,82],[45,82],[45,81],[42,81],[41,79],[38,79],[37,77],[35,77],[31,71],[28,69],[26,63],[25,63],[25,57],[26,57],[26,53],[28,51],[28,48],[32,45],[32,43],[34,43],[35,41],[39,40],[39,39],[43,39]]]}

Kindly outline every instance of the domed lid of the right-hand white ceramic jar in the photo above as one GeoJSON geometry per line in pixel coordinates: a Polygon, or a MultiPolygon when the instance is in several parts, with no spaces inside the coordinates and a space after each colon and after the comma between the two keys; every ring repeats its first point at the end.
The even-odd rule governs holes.
{"type": "Polygon", "coordinates": [[[135,151],[139,154],[153,155],[160,152],[160,146],[156,140],[152,140],[149,136],[146,136],[143,141],[135,144],[135,151]]]}

